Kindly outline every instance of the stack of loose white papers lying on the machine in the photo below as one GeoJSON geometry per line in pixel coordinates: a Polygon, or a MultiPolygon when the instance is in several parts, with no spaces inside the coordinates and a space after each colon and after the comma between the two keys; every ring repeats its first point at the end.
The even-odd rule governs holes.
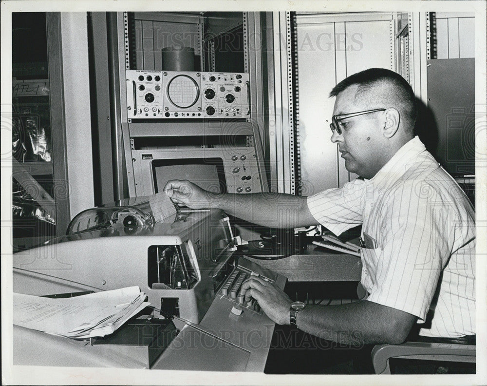
{"type": "Polygon", "coordinates": [[[14,325],[73,339],[105,336],[149,306],[145,299],[137,286],[57,299],[14,293],[14,325]]]}

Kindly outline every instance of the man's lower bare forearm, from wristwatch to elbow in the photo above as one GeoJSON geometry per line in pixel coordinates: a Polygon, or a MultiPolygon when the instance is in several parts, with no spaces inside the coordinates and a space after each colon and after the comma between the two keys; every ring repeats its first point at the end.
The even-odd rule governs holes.
{"type": "MultiPolygon", "coordinates": [[[[403,312],[367,301],[339,306],[308,306],[298,313],[302,331],[322,339],[354,347],[401,343],[411,329],[414,317],[397,322],[395,313],[403,312]]],[[[406,313],[405,313],[406,314],[406,313]]]]}

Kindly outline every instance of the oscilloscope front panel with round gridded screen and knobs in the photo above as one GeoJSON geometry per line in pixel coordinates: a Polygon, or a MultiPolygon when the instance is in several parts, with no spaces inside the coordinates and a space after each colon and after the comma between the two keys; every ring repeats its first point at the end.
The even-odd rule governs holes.
{"type": "Polygon", "coordinates": [[[250,115],[248,74],[126,70],[126,78],[129,119],[250,115]]]}

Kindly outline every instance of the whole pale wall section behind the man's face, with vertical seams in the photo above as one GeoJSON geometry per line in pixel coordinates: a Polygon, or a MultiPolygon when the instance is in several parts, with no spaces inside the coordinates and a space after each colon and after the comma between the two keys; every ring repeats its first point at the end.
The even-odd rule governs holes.
{"type": "Polygon", "coordinates": [[[329,124],[331,89],[370,67],[394,69],[392,15],[298,15],[298,95],[302,194],[342,186],[356,178],[345,169],[329,124]]]}

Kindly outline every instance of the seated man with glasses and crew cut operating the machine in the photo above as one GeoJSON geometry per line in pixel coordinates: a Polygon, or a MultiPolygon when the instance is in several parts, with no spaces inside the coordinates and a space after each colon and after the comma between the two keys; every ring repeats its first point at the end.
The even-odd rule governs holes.
{"type": "Polygon", "coordinates": [[[356,180],[309,197],[214,195],[187,181],[169,181],[165,191],[190,208],[220,208],[264,226],[322,224],[339,235],[362,224],[366,299],[293,310],[271,283],[244,282],[245,300],[256,299],[278,324],[348,345],[402,343],[416,323],[423,336],[474,335],[475,213],[414,137],[411,86],[393,71],[373,68],[339,82],[330,97],[336,97],[331,140],[356,180]],[[289,216],[289,208],[299,214],[289,216]]]}

